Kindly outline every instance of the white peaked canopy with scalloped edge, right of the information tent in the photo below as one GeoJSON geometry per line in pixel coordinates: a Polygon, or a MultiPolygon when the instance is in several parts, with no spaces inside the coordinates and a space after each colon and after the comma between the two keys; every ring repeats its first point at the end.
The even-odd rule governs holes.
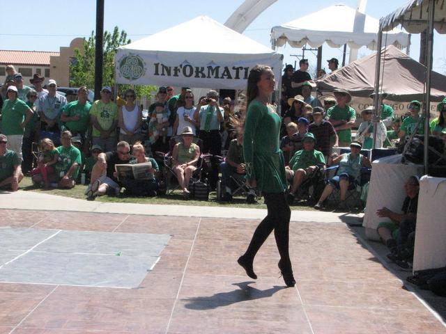
{"type": "MultiPolygon", "coordinates": [[[[339,3],[294,21],[274,26],[271,29],[271,44],[282,47],[286,42],[291,47],[321,47],[327,42],[330,47],[347,44],[351,49],[366,46],[376,49],[379,21],[339,3]]],[[[406,47],[408,34],[394,29],[387,35],[387,44],[406,47]]]]}

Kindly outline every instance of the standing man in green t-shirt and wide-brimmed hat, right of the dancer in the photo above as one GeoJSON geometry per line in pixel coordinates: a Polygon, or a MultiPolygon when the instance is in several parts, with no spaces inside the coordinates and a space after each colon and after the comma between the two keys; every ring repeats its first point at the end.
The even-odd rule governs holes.
{"type": "Polygon", "coordinates": [[[348,90],[337,88],[333,93],[337,104],[328,109],[325,119],[332,123],[336,130],[339,146],[348,147],[351,143],[351,128],[356,121],[356,111],[348,105],[351,102],[348,90]]]}

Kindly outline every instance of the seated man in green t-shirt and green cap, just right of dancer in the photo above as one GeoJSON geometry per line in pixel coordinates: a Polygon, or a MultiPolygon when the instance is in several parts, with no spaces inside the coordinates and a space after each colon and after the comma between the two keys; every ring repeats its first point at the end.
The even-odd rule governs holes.
{"type": "Polygon", "coordinates": [[[295,194],[298,193],[302,182],[317,177],[318,171],[321,168],[325,169],[323,153],[314,150],[314,145],[316,145],[314,134],[311,132],[305,134],[302,143],[304,149],[295,152],[289,166],[285,167],[286,179],[291,182],[291,190],[286,196],[289,205],[293,204],[295,194]]]}

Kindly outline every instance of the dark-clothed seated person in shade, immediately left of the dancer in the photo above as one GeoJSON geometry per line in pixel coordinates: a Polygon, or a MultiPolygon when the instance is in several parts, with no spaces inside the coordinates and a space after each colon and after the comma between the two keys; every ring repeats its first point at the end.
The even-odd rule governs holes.
{"type": "MultiPolygon", "coordinates": [[[[240,130],[237,133],[237,137],[229,144],[226,161],[220,164],[220,170],[222,170],[222,189],[224,189],[222,200],[231,202],[232,180],[235,178],[244,179],[246,175],[245,159],[243,159],[243,133],[240,130]]],[[[247,194],[247,202],[256,202],[254,191],[249,191],[247,194]]]]}

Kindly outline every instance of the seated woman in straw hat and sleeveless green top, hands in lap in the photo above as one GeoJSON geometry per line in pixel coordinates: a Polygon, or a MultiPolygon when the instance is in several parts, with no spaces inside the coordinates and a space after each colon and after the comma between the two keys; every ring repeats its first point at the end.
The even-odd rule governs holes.
{"type": "Polygon", "coordinates": [[[200,157],[199,145],[192,143],[194,132],[191,127],[184,127],[181,132],[181,141],[174,146],[172,152],[172,166],[183,196],[189,198],[190,191],[187,189],[192,173],[197,169],[200,157]]]}

